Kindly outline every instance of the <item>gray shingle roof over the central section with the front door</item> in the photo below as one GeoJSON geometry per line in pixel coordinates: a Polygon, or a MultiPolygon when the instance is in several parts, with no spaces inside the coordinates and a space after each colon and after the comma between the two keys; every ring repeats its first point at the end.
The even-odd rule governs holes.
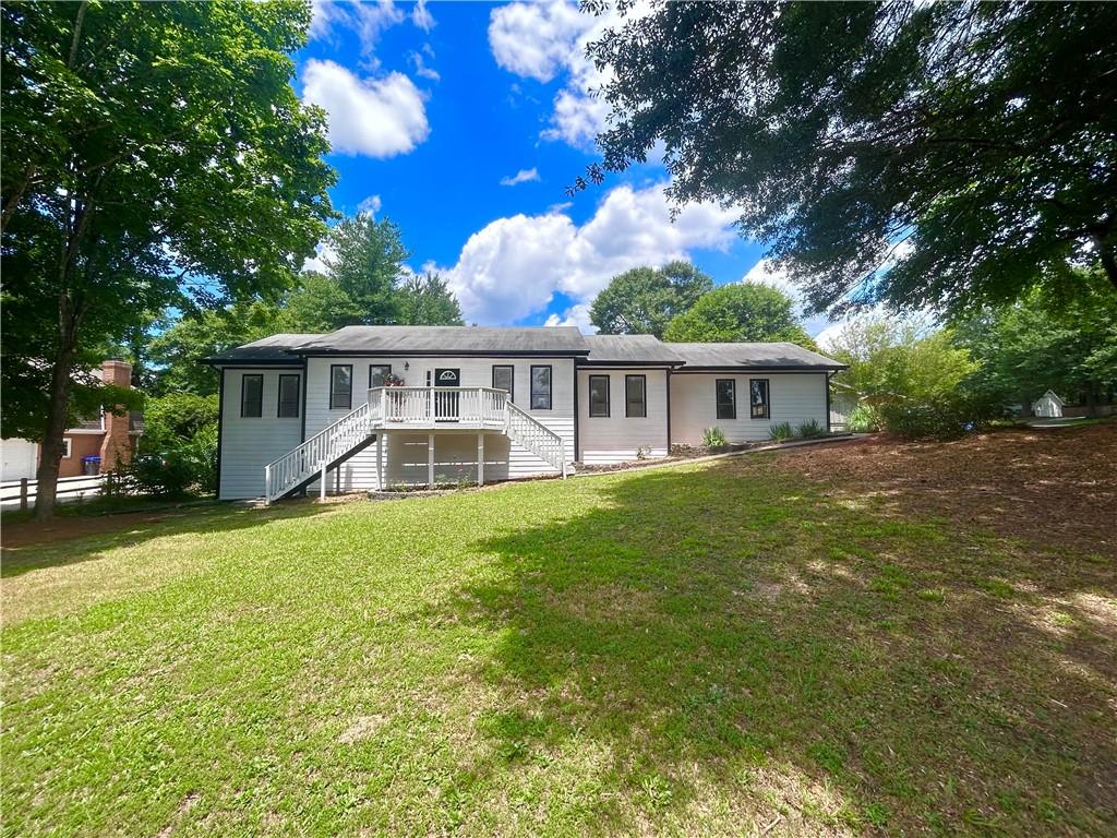
{"type": "Polygon", "coordinates": [[[298,354],[448,353],[584,355],[589,346],[574,326],[345,326],[316,335],[298,346],[298,354]]]}

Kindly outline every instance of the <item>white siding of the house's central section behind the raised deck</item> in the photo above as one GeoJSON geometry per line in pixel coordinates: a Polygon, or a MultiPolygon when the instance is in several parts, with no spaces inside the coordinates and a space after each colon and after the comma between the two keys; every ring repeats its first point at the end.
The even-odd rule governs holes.
{"type": "MultiPolygon", "coordinates": [[[[515,403],[527,411],[566,441],[567,459],[574,459],[574,362],[569,358],[350,358],[328,356],[307,359],[306,436],[307,438],[345,416],[346,410],[330,409],[330,368],[333,364],[353,365],[353,407],[365,398],[369,388],[369,368],[373,364],[391,364],[392,373],[403,379],[408,387],[426,387],[427,372],[435,369],[458,369],[461,371],[461,387],[493,387],[493,365],[510,364],[515,368],[515,403]],[[404,369],[404,364],[408,369],[404,369]],[[531,368],[550,365],[551,410],[531,409],[531,368]]],[[[384,448],[385,479],[389,484],[427,482],[427,434],[391,432],[385,435],[384,448]],[[421,459],[419,475],[417,463],[421,459]],[[417,477],[417,475],[419,475],[417,477]]],[[[476,477],[477,435],[461,435],[471,441],[457,439],[454,431],[436,434],[436,479],[454,482],[464,474],[461,461],[470,448],[474,477],[476,477]]],[[[380,488],[376,479],[378,440],[369,448],[342,464],[340,478],[331,478],[330,491],[360,491],[380,488]],[[340,483],[337,482],[340,479],[340,483]]],[[[518,445],[508,445],[499,435],[487,435],[485,439],[485,479],[497,480],[554,474],[554,469],[531,451],[518,445]],[[502,441],[503,440],[503,441],[502,441]],[[491,460],[491,465],[489,465],[491,460]]],[[[316,491],[312,487],[311,491],[316,491]]]]}

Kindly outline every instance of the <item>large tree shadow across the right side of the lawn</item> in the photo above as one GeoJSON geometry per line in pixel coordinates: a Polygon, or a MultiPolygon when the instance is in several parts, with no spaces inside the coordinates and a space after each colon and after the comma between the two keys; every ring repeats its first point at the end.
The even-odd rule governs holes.
{"type": "Polygon", "coordinates": [[[588,817],[620,829],[1117,829],[1109,563],[857,508],[761,458],[596,491],[484,543],[502,572],[451,606],[504,628],[464,787],[592,742],[588,817]]]}

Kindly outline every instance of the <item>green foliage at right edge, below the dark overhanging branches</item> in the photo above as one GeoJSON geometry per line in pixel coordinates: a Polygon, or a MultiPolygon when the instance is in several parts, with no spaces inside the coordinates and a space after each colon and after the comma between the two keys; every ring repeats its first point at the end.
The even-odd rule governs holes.
{"type": "Polygon", "coordinates": [[[978,369],[967,387],[1031,403],[1051,389],[1070,401],[1102,400],[1117,388],[1117,295],[1100,270],[1079,272],[1070,289],[1037,285],[1012,305],[954,324],[978,369]]]}

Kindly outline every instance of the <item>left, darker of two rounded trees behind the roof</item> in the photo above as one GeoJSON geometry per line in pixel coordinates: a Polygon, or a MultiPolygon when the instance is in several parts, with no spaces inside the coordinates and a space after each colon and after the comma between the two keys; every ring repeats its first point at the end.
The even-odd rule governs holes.
{"type": "Polygon", "coordinates": [[[662,337],[674,317],[690,310],[714,280],[688,261],[661,268],[632,268],[609,280],[590,306],[590,322],[601,334],[652,334],[662,337]]]}

